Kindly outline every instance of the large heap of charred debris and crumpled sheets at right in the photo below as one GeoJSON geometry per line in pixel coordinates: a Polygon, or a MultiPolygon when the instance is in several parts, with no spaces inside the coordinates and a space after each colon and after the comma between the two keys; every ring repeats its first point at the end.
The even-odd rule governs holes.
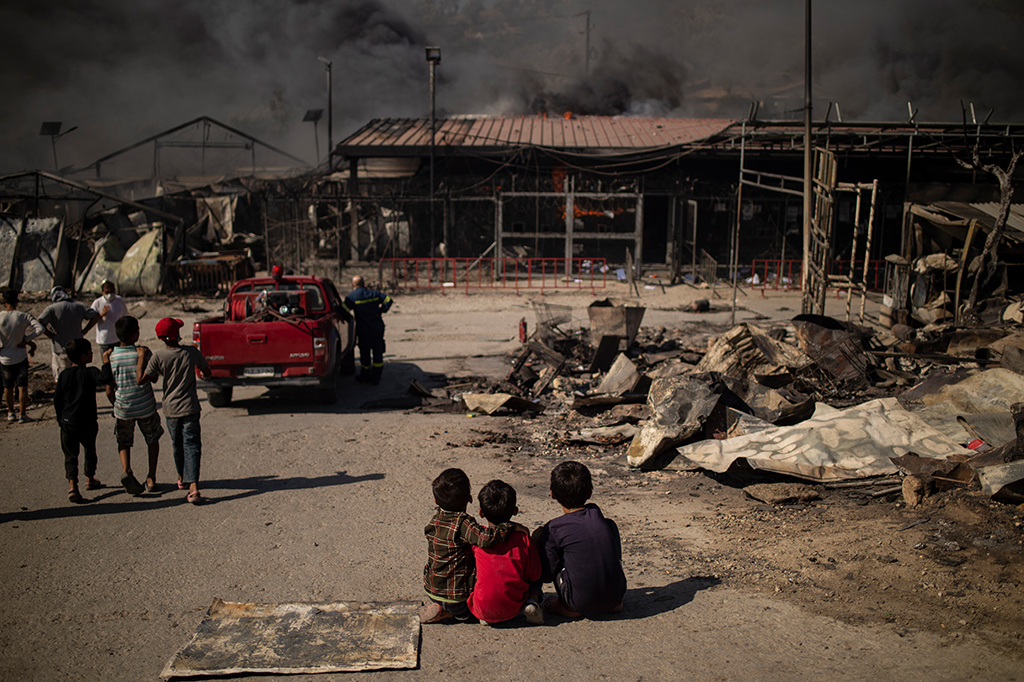
{"type": "MultiPolygon", "coordinates": [[[[530,454],[731,476],[770,504],[828,489],[910,507],[950,491],[1024,502],[1019,323],[640,329],[644,308],[601,301],[590,330],[563,330],[568,306],[534,306],[503,380],[417,384],[400,407],[520,418],[530,454]]],[[[515,440],[481,434],[468,444],[515,440]]]]}

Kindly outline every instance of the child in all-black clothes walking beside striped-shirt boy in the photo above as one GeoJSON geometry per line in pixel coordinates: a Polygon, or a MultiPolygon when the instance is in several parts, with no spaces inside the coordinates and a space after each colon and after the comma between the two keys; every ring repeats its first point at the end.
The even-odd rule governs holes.
{"type": "Polygon", "coordinates": [[[71,367],[57,377],[53,393],[53,412],[60,425],[60,450],[65,456],[65,476],[68,478],[68,501],[85,502],[78,489],[78,452],[85,451],[85,489],[102,485],[96,478],[96,388],[111,382],[111,368],[102,371],[88,367],[92,361],[92,344],[86,339],[74,339],[65,346],[71,367]]]}

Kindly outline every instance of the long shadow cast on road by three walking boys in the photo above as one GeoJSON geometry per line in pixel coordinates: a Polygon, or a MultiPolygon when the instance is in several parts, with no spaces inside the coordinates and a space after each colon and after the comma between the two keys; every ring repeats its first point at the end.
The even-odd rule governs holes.
{"type": "MultiPolygon", "coordinates": [[[[344,471],[338,471],[331,475],[313,477],[291,476],[281,478],[279,476],[251,476],[249,478],[203,480],[200,481],[200,489],[203,493],[202,506],[206,507],[222,502],[251,498],[263,493],[301,491],[383,479],[384,474],[382,473],[349,476],[344,471]],[[215,493],[216,491],[238,491],[238,493],[219,496],[215,493]]],[[[188,501],[185,499],[186,492],[173,489],[173,483],[170,485],[164,484],[164,489],[160,493],[145,493],[135,498],[128,497],[119,487],[108,487],[100,491],[96,497],[89,498],[86,503],[80,505],[69,504],[67,507],[52,507],[49,509],[23,509],[22,511],[0,514],[0,524],[12,521],[40,521],[55,518],[98,516],[101,514],[121,514],[187,505],[188,501]],[[99,504],[105,502],[109,498],[119,498],[119,501],[110,504],[99,504]]]]}

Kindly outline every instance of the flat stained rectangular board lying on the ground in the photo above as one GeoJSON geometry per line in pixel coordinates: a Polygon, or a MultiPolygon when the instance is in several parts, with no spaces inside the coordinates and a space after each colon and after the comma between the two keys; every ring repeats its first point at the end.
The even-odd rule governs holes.
{"type": "Polygon", "coordinates": [[[418,604],[253,604],[214,599],[161,677],[416,668],[418,604]]]}

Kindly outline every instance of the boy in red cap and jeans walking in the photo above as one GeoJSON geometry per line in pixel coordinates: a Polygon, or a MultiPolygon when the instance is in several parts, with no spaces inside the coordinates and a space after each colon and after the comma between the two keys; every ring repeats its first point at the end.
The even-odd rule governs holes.
{"type": "Polygon", "coordinates": [[[181,345],[181,328],[184,323],[164,317],[157,323],[157,338],[165,348],[156,352],[139,353],[136,376],[138,384],[146,384],[164,377],[164,419],[171,436],[174,467],[178,470],[178,487],[188,488],[188,502],[203,502],[199,493],[199,468],[203,457],[202,432],[199,425],[199,390],[196,373],[210,378],[210,366],[196,346],[181,345]]]}

